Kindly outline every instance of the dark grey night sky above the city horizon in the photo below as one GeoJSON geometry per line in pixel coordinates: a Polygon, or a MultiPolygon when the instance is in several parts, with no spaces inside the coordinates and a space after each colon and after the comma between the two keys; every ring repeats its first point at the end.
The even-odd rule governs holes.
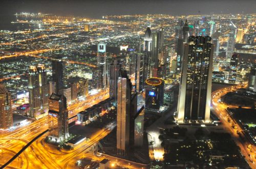
{"type": "Polygon", "coordinates": [[[57,15],[75,15],[98,18],[114,14],[229,14],[256,13],[255,0],[158,0],[158,1],[127,1],[127,0],[1,0],[0,14],[19,12],[42,12],[57,15]],[[199,13],[200,11],[200,13],[199,13]]]}

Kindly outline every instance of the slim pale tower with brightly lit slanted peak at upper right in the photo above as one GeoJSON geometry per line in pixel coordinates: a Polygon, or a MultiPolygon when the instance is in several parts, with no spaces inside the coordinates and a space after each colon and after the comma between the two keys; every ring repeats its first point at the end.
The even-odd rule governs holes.
{"type": "Polygon", "coordinates": [[[230,62],[230,59],[234,52],[234,41],[236,40],[236,35],[237,35],[237,26],[234,25],[232,21],[230,21],[228,40],[227,40],[227,49],[226,49],[226,62],[230,62]]]}

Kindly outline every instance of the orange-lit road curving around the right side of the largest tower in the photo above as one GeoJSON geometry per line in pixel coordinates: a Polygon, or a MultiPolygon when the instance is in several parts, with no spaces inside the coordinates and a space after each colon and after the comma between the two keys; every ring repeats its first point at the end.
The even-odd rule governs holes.
{"type": "Polygon", "coordinates": [[[220,90],[217,90],[215,92],[213,92],[211,94],[212,96],[212,108],[214,109],[214,111],[216,112],[217,116],[220,118],[223,127],[230,132],[234,142],[236,142],[236,144],[240,147],[241,149],[241,153],[243,154],[243,156],[245,157],[246,161],[248,162],[248,164],[250,165],[251,168],[256,168],[256,159],[255,159],[255,146],[252,146],[252,152],[250,151],[250,149],[247,148],[247,146],[250,145],[249,141],[246,139],[245,135],[243,134],[243,129],[240,128],[239,125],[235,125],[237,126],[236,129],[234,129],[232,127],[232,124],[237,124],[236,122],[233,122],[229,116],[229,114],[226,111],[226,108],[228,107],[228,105],[225,105],[223,103],[220,102],[220,99],[222,96],[224,96],[226,93],[231,92],[233,90],[242,88],[241,85],[238,86],[232,86],[232,87],[227,87],[227,88],[223,88],[220,90]],[[229,119],[229,120],[228,120],[229,119]],[[229,121],[229,122],[228,122],[229,121]],[[243,142],[239,136],[239,134],[237,133],[237,130],[241,133],[241,137],[243,137],[243,139],[245,139],[246,141],[243,142]]]}

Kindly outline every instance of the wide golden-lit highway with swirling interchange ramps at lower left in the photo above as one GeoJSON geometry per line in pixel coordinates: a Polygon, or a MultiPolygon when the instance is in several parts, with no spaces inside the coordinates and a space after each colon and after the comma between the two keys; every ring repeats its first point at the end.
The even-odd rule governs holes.
{"type": "MultiPolygon", "coordinates": [[[[69,117],[73,117],[76,114],[78,114],[78,112],[88,107],[91,107],[94,104],[97,104],[100,101],[103,101],[107,98],[109,98],[109,90],[102,90],[99,91],[99,93],[97,94],[88,96],[86,100],[77,101],[68,107],[69,117]]],[[[21,150],[26,144],[28,144],[33,138],[35,138],[40,132],[45,131],[47,129],[48,118],[44,117],[12,132],[5,134],[0,133],[0,154],[1,157],[4,157],[0,159],[0,164],[6,163],[19,150],[21,150]]],[[[93,137],[90,140],[89,144],[98,142],[99,139],[103,138],[109,132],[110,131],[96,133],[95,137],[93,137]]],[[[47,133],[40,137],[39,139],[43,139],[46,136],[47,133]]],[[[48,152],[48,150],[45,150],[43,144],[38,145],[39,139],[37,139],[36,142],[32,143],[22,154],[20,154],[13,162],[11,162],[7,168],[62,168],[60,164],[52,162],[52,159],[62,159],[62,156],[66,155],[67,152],[58,152],[59,154],[61,154],[61,157],[51,158],[51,156],[49,155],[50,152],[58,154],[56,153],[56,147],[51,147],[48,152]],[[29,161],[33,161],[33,163],[29,161]]],[[[84,147],[84,143],[81,143],[78,146],[84,147]]],[[[78,151],[77,148],[75,148],[73,150],[73,155],[66,157],[66,159],[70,159],[75,154],[81,153],[80,150],[78,151]]]]}

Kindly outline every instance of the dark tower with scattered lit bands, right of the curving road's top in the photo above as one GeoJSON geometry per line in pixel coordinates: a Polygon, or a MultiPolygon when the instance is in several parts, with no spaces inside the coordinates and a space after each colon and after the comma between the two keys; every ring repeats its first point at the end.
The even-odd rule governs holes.
{"type": "Polygon", "coordinates": [[[239,64],[239,54],[233,54],[230,60],[230,69],[228,73],[228,83],[236,83],[237,80],[237,71],[239,64]]]}

